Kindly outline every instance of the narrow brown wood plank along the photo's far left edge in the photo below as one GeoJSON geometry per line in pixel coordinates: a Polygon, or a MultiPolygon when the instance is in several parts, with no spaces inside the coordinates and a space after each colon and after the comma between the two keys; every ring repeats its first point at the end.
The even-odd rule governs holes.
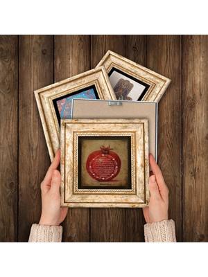
{"type": "Polygon", "coordinates": [[[0,35],[0,242],[17,241],[18,37],[0,35]]]}

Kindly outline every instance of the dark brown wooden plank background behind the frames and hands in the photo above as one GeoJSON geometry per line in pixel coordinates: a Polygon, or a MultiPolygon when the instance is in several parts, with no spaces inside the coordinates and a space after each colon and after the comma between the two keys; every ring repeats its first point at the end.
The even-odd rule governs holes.
{"type": "MultiPolygon", "coordinates": [[[[159,102],[158,163],[178,242],[208,242],[208,36],[1,35],[0,241],[26,242],[49,167],[33,91],[92,69],[110,49],[171,78],[159,102]]],[[[64,242],[143,242],[136,208],[71,208],[64,242]]]]}

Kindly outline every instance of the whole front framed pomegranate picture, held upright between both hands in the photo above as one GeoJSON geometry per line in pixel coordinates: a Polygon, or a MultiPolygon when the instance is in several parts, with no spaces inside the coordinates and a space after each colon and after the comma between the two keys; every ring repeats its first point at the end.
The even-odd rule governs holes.
{"type": "Polygon", "coordinates": [[[61,206],[148,205],[148,120],[61,120],[61,206]]]}

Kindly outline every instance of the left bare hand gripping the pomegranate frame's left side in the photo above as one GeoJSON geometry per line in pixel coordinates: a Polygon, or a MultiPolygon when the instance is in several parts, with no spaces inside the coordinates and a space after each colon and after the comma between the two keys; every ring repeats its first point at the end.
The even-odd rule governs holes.
{"type": "Polygon", "coordinates": [[[68,208],[60,207],[60,172],[57,170],[60,163],[60,150],[41,183],[42,214],[40,225],[55,226],[64,221],[68,208]]]}

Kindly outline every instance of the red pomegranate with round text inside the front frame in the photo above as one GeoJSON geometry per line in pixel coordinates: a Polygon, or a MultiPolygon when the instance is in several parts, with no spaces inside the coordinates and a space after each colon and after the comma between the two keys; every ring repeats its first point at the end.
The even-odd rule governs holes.
{"type": "Polygon", "coordinates": [[[89,154],[86,169],[89,175],[97,181],[111,181],[121,170],[121,159],[119,155],[110,148],[101,145],[101,150],[89,154]]]}

